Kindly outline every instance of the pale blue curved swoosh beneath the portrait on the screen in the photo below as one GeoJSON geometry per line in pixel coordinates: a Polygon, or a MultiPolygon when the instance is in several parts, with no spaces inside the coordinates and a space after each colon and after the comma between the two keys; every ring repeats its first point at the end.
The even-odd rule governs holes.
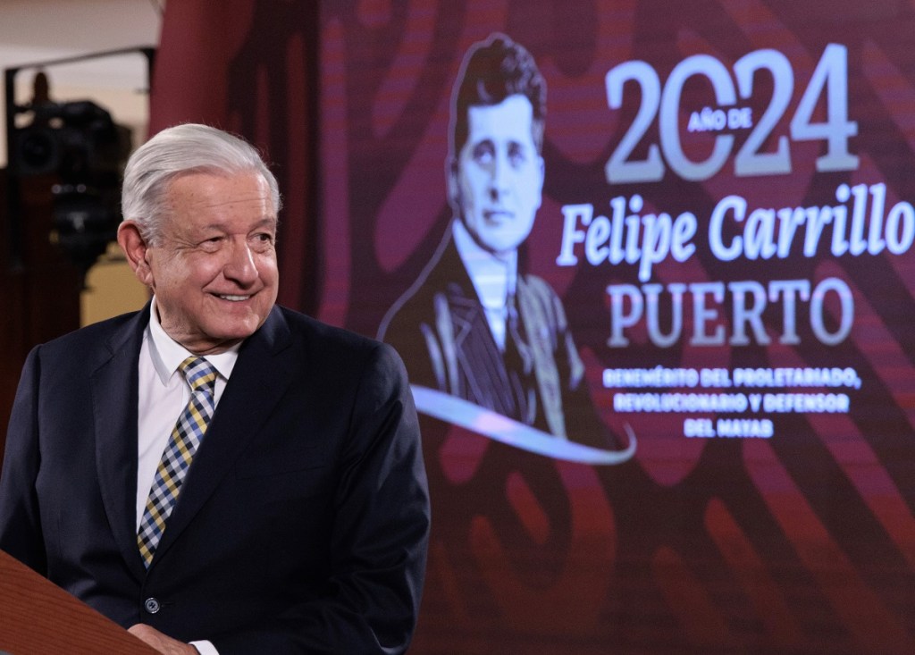
{"type": "Polygon", "coordinates": [[[603,450],[556,438],[449,393],[418,384],[411,384],[410,389],[419,412],[532,453],[593,465],[622,464],[635,455],[635,432],[629,424],[624,425],[629,446],[623,450],[603,450]]]}

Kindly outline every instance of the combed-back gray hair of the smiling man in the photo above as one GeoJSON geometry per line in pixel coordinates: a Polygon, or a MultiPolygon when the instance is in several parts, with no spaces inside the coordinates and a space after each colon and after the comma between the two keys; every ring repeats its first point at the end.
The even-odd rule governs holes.
{"type": "Polygon", "coordinates": [[[276,178],[253,145],[209,125],[184,123],[169,127],[137,148],[127,161],[121,190],[124,220],[134,220],[144,241],[157,245],[168,213],[168,186],[175,178],[190,173],[247,172],[264,177],[274,211],[279,213],[281,199],[276,178]]]}

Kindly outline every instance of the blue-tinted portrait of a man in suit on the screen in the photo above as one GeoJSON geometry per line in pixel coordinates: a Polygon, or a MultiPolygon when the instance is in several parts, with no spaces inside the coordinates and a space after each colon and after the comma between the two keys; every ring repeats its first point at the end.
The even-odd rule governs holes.
{"type": "Polygon", "coordinates": [[[542,199],[545,105],[544,78],[520,44],[494,34],[468,50],[451,104],[455,219],[379,338],[404,356],[414,384],[607,446],[562,301],[519,267],[542,199]]]}

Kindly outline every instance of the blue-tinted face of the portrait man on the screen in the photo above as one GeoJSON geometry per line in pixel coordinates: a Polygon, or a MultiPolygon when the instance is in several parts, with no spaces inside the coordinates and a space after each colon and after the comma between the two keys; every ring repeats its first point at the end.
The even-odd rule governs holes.
{"type": "Polygon", "coordinates": [[[522,95],[468,109],[468,139],[452,169],[461,220],[490,252],[515,250],[540,208],[544,159],[533,142],[533,107],[522,95]]]}

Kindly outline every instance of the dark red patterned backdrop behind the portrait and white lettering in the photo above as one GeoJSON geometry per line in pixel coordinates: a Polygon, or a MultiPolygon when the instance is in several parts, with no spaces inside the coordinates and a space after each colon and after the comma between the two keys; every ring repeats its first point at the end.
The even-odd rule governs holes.
{"type": "Polygon", "coordinates": [[[690,210],[705,226],[729,193],[751,207],[807,207],[836,204],[843,182],[885,182],[890,205],[911,202],[913,5],[175,2],[154,129],[206,121],[261,145],[286,203],[281,302],[373,335],[446,229],[451,84],[468,46],[496,30],[532,51],[548,86],[544,205],[527,260],[563,296],[606,422],[629,421],[639,450],[619,467],[587,467],[425,420],[434,529],[412,651],[915,651],[912,254],[720,263],[700,228],[693,258],[655,268],[662,284],[838,277],[856,317],[836,347],[802,327],[797,348],[684,339],[658,349],[642,336],[608,349],[605,287],[639,284],[634,268],[554,264],[566,203],[606,211],[609,199],[640,193],[649,208],[690,210]],[[668,172],[660,183],[608,185],[603,166],[638,106],[633,93],[608,109],[613,66],[643,59],[663,80],[695,53],[730,69],[775,48],[791,60],[792,110],[828,43],[848,48],[857,170],[817,173],[822,144],[810,142],[791,145],[790,176],[734,177],[729,162],[704,183],[668,172]],[[850,413],[774,417],[770,440],[687,439],[683,416],[615,415],[600,386],[606,367],[658,364],[851,366],[863,386],[849,392],[850,413]]]}

